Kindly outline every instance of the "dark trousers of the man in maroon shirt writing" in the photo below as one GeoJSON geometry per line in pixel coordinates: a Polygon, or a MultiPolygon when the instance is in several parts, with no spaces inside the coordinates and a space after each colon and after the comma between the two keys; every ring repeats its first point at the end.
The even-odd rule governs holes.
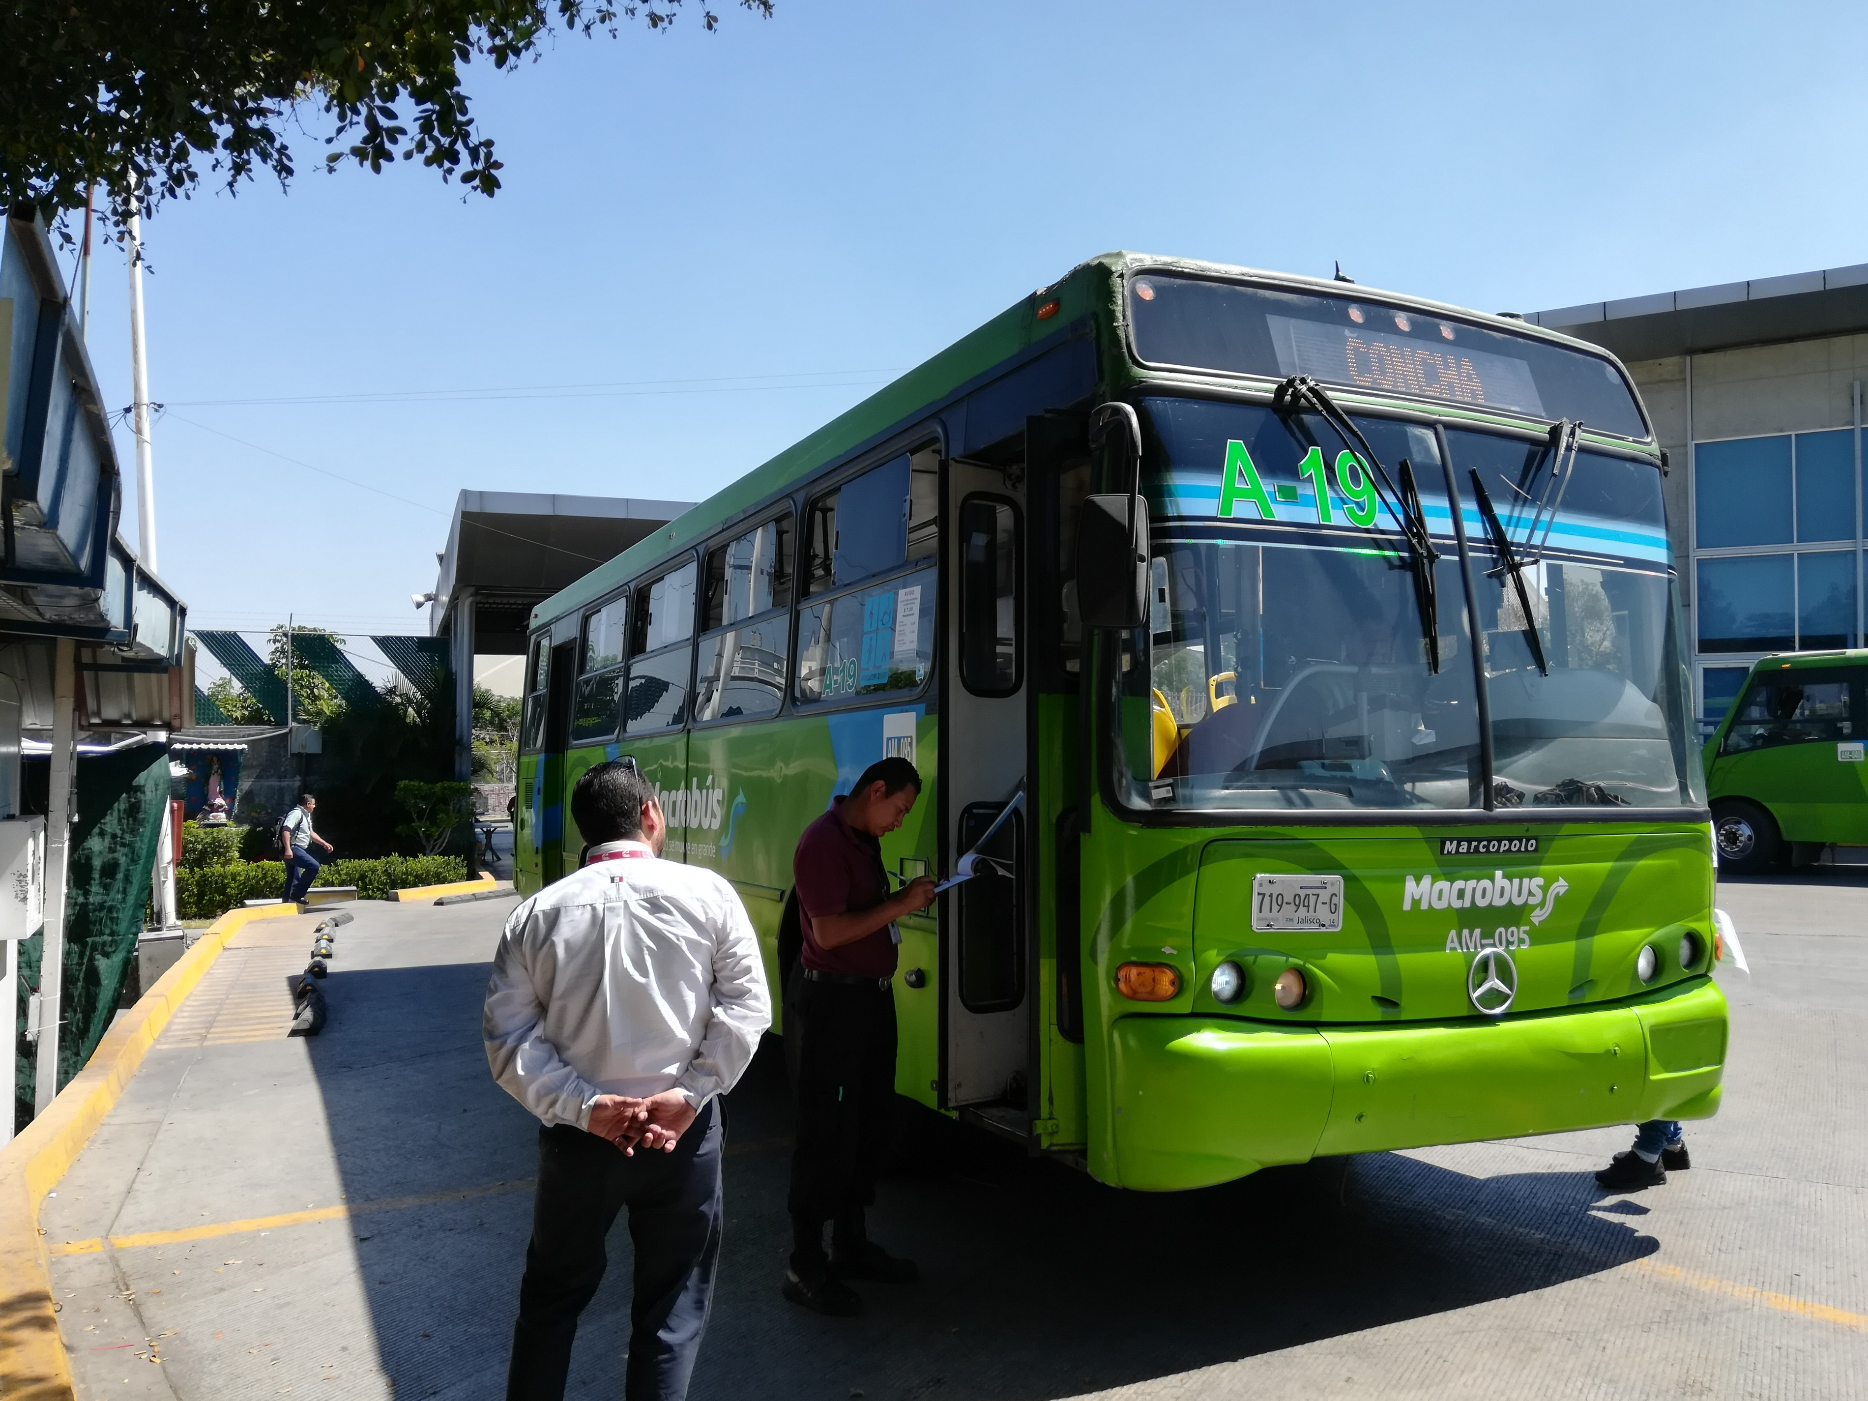
{"type": "Polygon", "coordinates": [[[895,1132],[895,996],[813,983],[798,968],[785,998],[785,1065],[798,1098],[792,1268],[809,1276],[824,1268],[824,1222],[837,1224],[839,1244],[856,1244],[876,1199],[895,1132]]]}

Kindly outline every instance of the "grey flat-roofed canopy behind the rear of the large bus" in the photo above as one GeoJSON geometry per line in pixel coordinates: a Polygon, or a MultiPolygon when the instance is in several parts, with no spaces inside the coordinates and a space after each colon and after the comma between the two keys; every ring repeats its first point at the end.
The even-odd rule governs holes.
{"type": "Polygon", "coordinates": [[[525,650],[532,607],[689,510],[686,501],[461,491],[428,620],[450,633],[473,598],[474,652],[525,650]]]}

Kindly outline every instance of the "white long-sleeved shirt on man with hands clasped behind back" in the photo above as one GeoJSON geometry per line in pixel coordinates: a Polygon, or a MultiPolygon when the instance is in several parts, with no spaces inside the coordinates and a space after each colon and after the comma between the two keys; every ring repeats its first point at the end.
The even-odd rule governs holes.
{"type": "Polygon", "coordinates": [[[680,1089],[700,1108],[771,1026],[745,906],[639,841],[590,857],[506,919],[480,1026],[493,1078],[547,1125],[588,1126],[598,1095],[680,1089]]]}

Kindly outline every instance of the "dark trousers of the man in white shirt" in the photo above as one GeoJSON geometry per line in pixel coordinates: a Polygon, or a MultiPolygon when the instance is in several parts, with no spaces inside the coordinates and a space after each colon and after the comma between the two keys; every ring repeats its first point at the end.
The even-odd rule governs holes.
{"type": "Polygon", "coordinates": [[[719,1261],[723,1130],[710,1100],[674,1153],[615,1143],[570,1125],[538,1132],[532,1244],[519,1283],[506,1401],[559,1401],[577,1315],[596,1296],[603,1238],[630,1209],[635,1298],[630,1306],[628,1401],[680,1401],[700,1352],[719,1261]]]}

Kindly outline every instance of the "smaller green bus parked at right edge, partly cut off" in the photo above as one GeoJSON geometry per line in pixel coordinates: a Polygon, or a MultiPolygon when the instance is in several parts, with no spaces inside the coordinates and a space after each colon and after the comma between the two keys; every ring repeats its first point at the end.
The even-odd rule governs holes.
{"type": "Polygon", "coordinates": [[[1780,870],[1825,846],[1868,846],[1868,650],[1752,663],[1705,742],[1719,861],[1780,870]]]}

